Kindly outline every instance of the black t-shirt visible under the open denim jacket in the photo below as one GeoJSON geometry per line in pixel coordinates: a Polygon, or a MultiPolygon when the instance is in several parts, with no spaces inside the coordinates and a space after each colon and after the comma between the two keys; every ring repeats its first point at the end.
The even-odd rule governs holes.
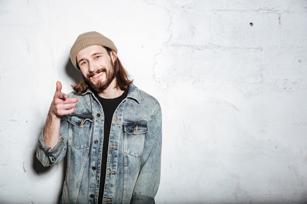
{"type": "Polygon", "coordinates": [[[102,98],[98,94],[96,94],[96,97],[98,98],[99,102],[102,105],[104,113],[102,166],[101,166],[101,175],[100,175],[100,184],[99,184],[100,187],[99,187],[98,204],[102,204],[102,199],[103,199],[103,190],[104,190],[105,173],[106,173],[106,160],[108,154],[112,117],[118,105],[127,97],[127,94],[128,90],[124,91],[124,93],[121,96],[112,99],[102,98]]]}

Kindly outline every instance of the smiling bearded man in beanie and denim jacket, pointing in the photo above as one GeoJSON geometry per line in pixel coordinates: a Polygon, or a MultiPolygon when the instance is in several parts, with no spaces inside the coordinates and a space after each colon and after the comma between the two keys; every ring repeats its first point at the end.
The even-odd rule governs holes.
{"type": "Polygon", "coordinates": [[[129,80],[114,43],[97,32],[71,48],[79,84],[56,91],[37,158],[44,166],[67,154],[61,204],[154,204],[160,181],[161,109],[129,80]]]}

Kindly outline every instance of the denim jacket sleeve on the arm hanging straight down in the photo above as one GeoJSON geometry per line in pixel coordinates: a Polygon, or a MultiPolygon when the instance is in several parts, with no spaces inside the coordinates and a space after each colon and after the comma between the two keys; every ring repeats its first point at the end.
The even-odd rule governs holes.
{"type": "Polygon", "coordinates": [[[154,204],[161,173],[162,115],[157,103],[152,120],[148,123],[143,161],[135,183],[130,204],[154,204]],[[144,155],[145,153],[145,155],[144,155]]]}

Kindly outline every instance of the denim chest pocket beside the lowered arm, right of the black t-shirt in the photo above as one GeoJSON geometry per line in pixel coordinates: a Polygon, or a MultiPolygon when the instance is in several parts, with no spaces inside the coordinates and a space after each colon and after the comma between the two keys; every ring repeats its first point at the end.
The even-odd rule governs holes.
{"type": "Polygon", "coordinates": [[[145,134],[148,133],[147,122],[138,121],[125,123],[125,153],[133,157],[140,157],[143,153],[145,134]]]}

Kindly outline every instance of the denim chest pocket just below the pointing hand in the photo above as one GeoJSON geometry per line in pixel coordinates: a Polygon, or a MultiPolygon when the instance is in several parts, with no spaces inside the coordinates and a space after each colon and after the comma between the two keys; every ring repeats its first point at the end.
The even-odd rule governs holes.
{"type": "Polygon", "coordinates": [[[92,116],[70,115],[67,121],[70,123],[68,142],[76,149],[90,146],[92,116]]]}

